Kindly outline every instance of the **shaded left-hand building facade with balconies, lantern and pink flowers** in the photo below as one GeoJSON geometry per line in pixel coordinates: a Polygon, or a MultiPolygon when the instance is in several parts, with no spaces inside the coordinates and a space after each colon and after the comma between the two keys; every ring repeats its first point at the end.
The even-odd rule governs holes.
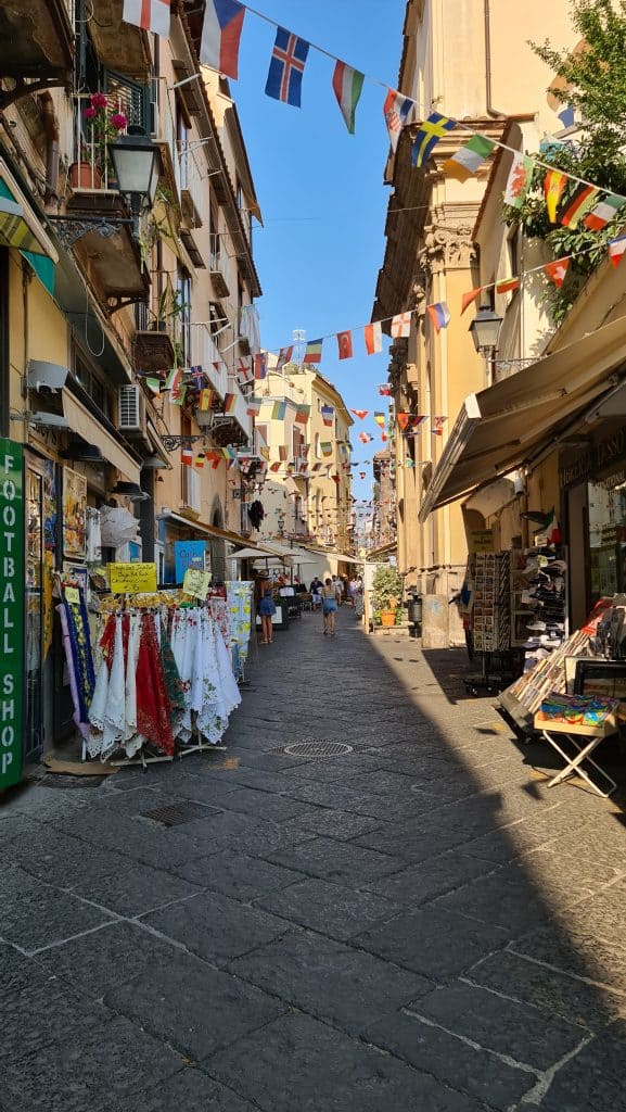
{"type": "Polygon", "coordinates": [[[240,535],[259,212],[199,33],[186,3],[169,39],[113,0],[0,3],[0,433],[24,460],[28,759],[72,728],[56,577],[101,584],[123,560],[173,583],[188,540],[219,577],[240,535]]]}

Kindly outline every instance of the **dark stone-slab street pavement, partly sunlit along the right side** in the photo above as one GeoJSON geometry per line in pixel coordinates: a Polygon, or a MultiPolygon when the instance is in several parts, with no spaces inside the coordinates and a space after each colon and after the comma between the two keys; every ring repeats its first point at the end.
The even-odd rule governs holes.
{"type": "Polygon", "coordinates": [[[0,1112],[626,1109],[618,807],[339,626],[259,647],[226,756],[0,806],[0,1112]]]}

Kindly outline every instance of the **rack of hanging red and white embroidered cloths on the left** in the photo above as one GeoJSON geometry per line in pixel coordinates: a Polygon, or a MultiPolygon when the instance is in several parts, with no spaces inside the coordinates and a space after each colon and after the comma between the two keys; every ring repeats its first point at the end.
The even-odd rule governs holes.
{"type": "Polygon", "coordinates": [[[86,583],[59,577],[57,589],[83,759],[146,766],[221,747],[241,702],[251,584],[205,587],[201,598],[185,590],[106,594],[93,638],[86,583]]]}

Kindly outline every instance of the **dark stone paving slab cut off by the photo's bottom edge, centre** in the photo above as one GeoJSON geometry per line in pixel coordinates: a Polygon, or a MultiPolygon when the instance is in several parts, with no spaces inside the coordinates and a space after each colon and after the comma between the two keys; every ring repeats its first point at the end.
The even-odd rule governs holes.
{"type": "Polygon", "coordinates": [[[299,1015],[277,1020],[241,1040],[211,1059],[207,1070],[264,1112],[478,1112],[480,1108],[428,1074],[299,1015]]]}

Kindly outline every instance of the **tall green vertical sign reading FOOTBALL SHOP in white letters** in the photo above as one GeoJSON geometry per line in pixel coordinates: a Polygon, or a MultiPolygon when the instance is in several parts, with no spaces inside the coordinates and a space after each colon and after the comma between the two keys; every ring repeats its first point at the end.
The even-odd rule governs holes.
{"type": "Polygon", "coordinates": [[[23,449],[0,437],[0,791],[22,773],[23,449]]]}

